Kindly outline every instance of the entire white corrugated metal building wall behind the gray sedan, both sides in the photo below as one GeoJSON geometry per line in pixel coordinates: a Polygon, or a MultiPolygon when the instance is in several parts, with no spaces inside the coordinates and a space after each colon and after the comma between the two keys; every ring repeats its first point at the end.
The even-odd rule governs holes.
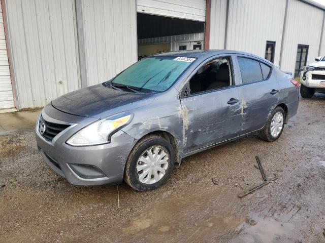
{"type": "MultiPolygon", "coordinates": [[[[211,0],[210,49],[226,46],[264,57],[266,41],[275,41],[279,65],[286,1],[229,0],[228,15],[227,2],[211,0]]],[[[136,62],[137,11],[205,20],[205,0],[5,3],[18,108],[44,106],[64,93],[108,80],[136,62]]],[[[324,55],[323,18],[323,10],[289,0],[282,69],[294,71],[298,44],[309,45],[308,62],[319,50],[324,55]]]]}

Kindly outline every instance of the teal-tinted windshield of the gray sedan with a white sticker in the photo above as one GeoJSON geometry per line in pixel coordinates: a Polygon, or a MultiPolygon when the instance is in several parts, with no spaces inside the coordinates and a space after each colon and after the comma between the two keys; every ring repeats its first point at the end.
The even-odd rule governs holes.
{"type": "Polygon", "coordinates": [[[126,68],[113,79],[112,84],[139,88],[140,91],[163,92],[194,60],[187,57],[147,57],[126,68]]]}

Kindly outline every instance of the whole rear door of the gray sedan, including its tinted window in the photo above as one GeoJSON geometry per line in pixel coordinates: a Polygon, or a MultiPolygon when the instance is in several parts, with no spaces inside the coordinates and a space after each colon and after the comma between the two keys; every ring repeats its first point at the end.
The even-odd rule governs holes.
{"type": "Polygon", "coordinates": [[[261,129],[278,104],[279,84],[272,66],[250,56],[237,56],[242,76],[242,134],[261,129]]]}

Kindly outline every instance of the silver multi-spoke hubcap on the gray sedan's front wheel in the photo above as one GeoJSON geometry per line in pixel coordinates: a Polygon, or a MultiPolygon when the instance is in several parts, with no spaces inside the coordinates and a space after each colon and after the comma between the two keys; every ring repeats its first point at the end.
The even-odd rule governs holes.
{"type": "Polygon", "coordinates": [[[169,153],[161,146],[152,146],[138,159],[137,172],[144,184],[153,184],[163,178],[169,166],[169,153]]]}

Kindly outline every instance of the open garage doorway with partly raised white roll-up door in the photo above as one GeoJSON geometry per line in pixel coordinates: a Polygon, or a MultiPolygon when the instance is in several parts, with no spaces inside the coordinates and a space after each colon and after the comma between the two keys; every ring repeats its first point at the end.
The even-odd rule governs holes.
{"type": "Polygon", "coordinates": [[[206,0],[137,0],[138,60],[203,50],[205,19],[206,0]]]}

